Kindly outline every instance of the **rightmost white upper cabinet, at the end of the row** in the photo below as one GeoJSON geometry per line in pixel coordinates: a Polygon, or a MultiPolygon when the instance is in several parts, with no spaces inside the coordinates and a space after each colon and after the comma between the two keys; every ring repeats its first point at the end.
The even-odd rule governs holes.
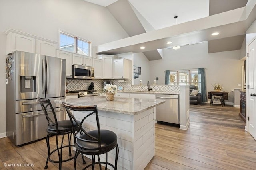
{"type": "Polygon", "coordinates": [[[113,78],[132,78],[132,61],[116,59],[113,62],[113,78]]]}

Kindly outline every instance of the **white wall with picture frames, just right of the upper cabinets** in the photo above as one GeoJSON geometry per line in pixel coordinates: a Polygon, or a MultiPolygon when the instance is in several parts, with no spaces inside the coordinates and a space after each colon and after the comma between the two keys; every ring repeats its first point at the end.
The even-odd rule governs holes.
{"type": "MultiPolygon", "coordinates": [[[[150,80],[149,79],[150,67],[149,67],[149,61],[147,57],[143,53],[134,53],[133,64],[141,68],[141,75],[139,75],[139,78],[133,79],[133,84],[139,85],[140,80],[142,80],[142,84],[146,85],[148,83],[148,80],[150,80]]],[[[150,81],[150,84],[152,84],[153,81],[150,81]]]]}

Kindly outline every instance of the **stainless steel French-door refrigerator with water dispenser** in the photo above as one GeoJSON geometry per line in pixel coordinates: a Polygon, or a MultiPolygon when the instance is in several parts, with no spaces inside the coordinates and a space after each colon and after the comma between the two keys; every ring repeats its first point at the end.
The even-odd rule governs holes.
{"type": "MultiPolygon", "coordinates": [[[[64,99],[66,60],[16,51],[6,58],[6,135],[15,145],[46,137],[48,123],[37,98],[64,99]]],[[[62,104],[52,102],[59,120],[62,104]]]]}

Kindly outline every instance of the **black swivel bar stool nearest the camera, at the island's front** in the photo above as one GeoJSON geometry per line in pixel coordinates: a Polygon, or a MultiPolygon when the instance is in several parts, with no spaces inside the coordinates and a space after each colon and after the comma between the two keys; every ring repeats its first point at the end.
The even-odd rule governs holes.
{"type": "Polygon", "coordinates": [[[76,158],[77,156],[82,153],[86,155],[92,155],[92,163],[87,165],[83,168],[85,170],[86,168],[92,166],[92,169],[94,170],[94,165],[99,164],[100,170],[101,170],[101,163],[105,164],[105,169],[107,169],[107,165],[112,166],[115,170],[117,170],[117,160],[118,160],[118,153],[119,148],[117,144],[117,136],[114,132],[109,130],[100,130],[100,122],[99,122],[99,116],[98,116],[98,109],[97,106],[73,106],[67,103],[62,103],[64,107],[66,108],[66,111],[68,112],[68,116],[71,120],[72,127],[73,127],[73,135],[74,135],[74,142],[76,147],[76,153],[74,157],[74,168],[76,170],[76,158]],[[74,111],[86,111],[88,113],[81,122],[78,122],[74,115],[70,112],[70,110],[74,111]],[[96,122],[97,122],[97,130],[92,131],[86,131],[82,124],[84,123],[84,120],[89,117],[90,115],[96,116],[96,122]],[[75,125],[78,124],[78,131],[82,131],[82,135],[77,135],[78,131],[76,131],[75,125]],[[108,162],[108,152],[112,149],[116,148],[116,157],[115,157],[115,166],[113,164],[110,164],[108,162]],[[106,162],[100,161],[101,154],[106,154],[106,162]],[[98,157],[98,162],[95,162],[95,156],[98,157]]]}

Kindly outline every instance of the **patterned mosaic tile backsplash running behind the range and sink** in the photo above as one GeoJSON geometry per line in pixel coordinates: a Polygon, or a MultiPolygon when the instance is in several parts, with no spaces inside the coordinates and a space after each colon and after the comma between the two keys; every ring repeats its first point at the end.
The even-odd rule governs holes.
{"type": "MultiPolygon", "coordinates": [[[[146,91],[148,90],[148,86],[131,86],[132,79],[126,79],[125,82],[118,82],[118,80],[82,80],[82,79],[67,79],[67,86],[66,88],[69,91],[74,90],[88,90],[91,82],[94,82],[94,90],[102,91],[104,86],[104,81],[112,81],[116,86],[122,86],[124,91],[146,91]]],[[[158,92],[180,92],[180,86],[169,86],[169,85],[150,85],[152,91],[158,92]]]]}

